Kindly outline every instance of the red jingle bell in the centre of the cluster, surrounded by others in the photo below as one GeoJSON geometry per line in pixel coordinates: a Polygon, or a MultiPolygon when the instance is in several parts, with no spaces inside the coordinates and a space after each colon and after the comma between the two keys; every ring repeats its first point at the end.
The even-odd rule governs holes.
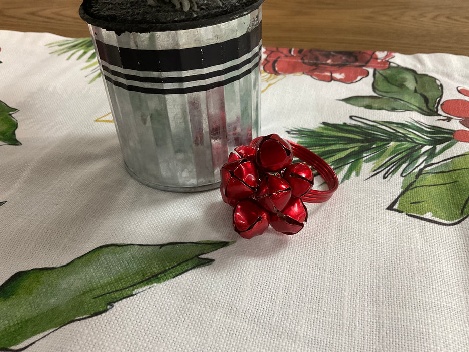
{"type": "Polygon", "coordinates": [[[286,180],[268,175],[260,182],[256,199],[265,209],[277,212],[285,208],[291,195],[292,189],[286,180]]]}

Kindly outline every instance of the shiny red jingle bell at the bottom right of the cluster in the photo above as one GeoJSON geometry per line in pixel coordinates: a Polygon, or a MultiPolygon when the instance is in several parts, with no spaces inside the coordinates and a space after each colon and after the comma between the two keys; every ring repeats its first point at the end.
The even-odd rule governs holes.
{"type": "Polygon", "coordinates": [[[308,210],[300,198],[291,198],[290,202],[280,213],[274,213],[270,217],[270,225],[278,232],[286,235],[294,235],[299,232],[308,219],[308,210]]]}

